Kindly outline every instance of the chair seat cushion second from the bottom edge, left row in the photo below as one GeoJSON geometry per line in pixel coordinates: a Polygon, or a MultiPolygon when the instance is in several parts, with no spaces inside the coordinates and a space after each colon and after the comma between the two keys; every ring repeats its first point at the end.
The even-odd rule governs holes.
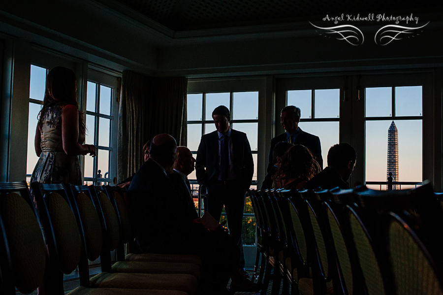
{"type": "Polygon", "coordinates": [[[90,279],[91,288],[177,290],[189,295],[197,290],[197,278],[190,274],[108,273],[90,279]]]}

